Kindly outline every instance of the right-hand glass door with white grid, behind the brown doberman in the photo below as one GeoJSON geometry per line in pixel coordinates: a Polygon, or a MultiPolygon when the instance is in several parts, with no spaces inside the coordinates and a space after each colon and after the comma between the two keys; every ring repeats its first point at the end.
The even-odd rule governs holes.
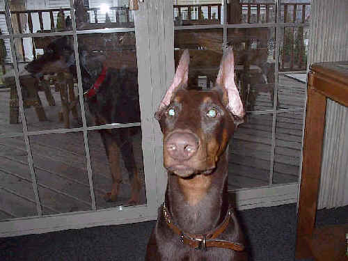
{"type": "Polygon", "coordinates": [[[306,102],[310,1],[173,0],[175,65],[212,88],[226,47],[246,122],[230,141],[228,188],[241,209],[295,203],[306,102]]]}

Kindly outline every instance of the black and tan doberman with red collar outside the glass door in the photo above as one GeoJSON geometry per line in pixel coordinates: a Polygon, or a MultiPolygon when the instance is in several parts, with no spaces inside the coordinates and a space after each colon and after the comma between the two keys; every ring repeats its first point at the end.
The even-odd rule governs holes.
{"type": "MultiPolygon", "coordinates": [[[[106,57],[84,51],[79,46],[82,88],[88,109],[97,125],[140,121],[138,74],[136,69],[107,68],[106,57]]],[[[71,74],[77,78],[72,38],[62,36],[45,47],[40,58],[26,65],[33,77],[45,74],[71,74]]],[[[111,192],[104,196],[107,201],[118,200],[122,173],[120,159],[125,163],[131,182],[129,204],[139,203],[141,180],[134,159],[132,136],[140,127],[99,129],[109,159],[112,177],[111,192]]]]}

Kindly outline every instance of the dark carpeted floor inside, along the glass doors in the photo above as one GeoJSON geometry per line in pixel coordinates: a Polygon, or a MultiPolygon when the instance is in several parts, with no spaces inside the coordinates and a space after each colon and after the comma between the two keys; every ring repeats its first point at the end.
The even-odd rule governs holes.
{"type": "MultiPolygon", "coordinates": [[[[296,205],[239,212],[250,260],[293,261],[296,205]]],[[[348,206],[319,210],[317,226],[348,223],[348,206]]],[[[143,260],[155,221],[0,238],[0,260],[143,260]]]]}

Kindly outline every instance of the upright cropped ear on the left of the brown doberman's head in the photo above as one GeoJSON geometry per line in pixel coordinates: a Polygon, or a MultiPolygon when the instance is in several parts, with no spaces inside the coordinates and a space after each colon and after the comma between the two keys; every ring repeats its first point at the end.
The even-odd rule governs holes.
{"type": "Polygon", "coordinates": [[[161,111],[163,111],[163,109],[171,103],[171,99],[175,91],[178,88],[187,87],[187,81],[189,79],[189,62],[189,50],[185,49],[180,58],[179,65],[177,65],[173,83],[171,84],[171,86],[169,86],[168,90],[166,91],[166,95],[164,95],[161,103],[159,104],[159,108],[155,113],[157,120],[159,120],[159,118],[161,117],[161,111]]]}

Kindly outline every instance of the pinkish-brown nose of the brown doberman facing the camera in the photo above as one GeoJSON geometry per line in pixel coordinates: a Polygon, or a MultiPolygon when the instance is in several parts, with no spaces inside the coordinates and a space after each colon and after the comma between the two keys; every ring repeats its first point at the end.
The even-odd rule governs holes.
{"type": "Polygon", "coordinates": [[[196,154],[198,139],[188,132],[175,132],[168,137],[165,149],[173,159],[187,160],[196,154]]]}

